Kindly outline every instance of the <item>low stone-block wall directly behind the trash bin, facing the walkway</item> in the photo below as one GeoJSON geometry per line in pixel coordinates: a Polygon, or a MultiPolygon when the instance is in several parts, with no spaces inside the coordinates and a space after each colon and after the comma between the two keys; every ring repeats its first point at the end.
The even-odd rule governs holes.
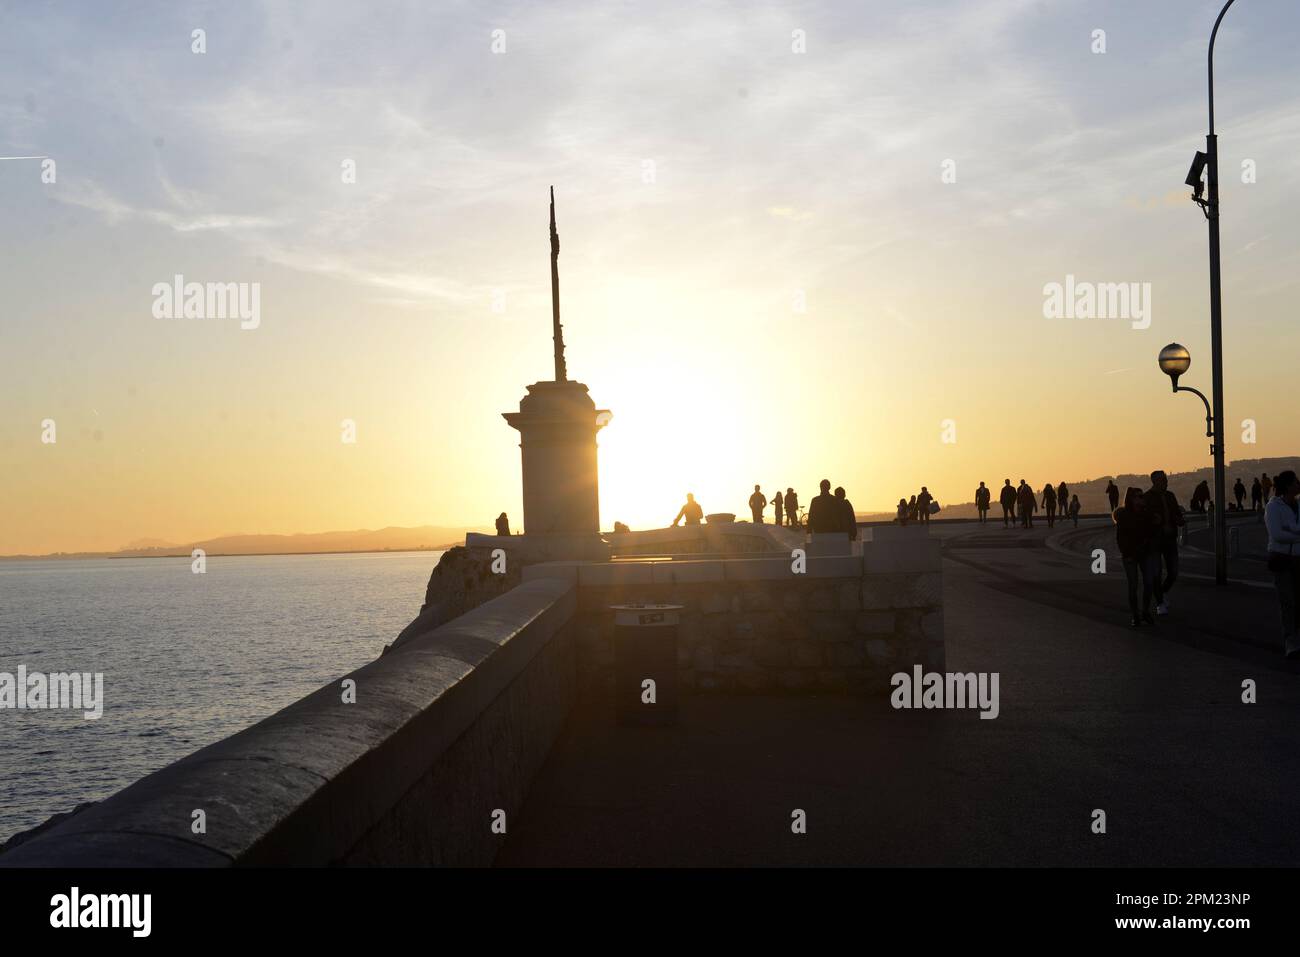
{"type": "Polygon", "coordinates": [[[944,670],[939,542],[907,536],[867,541],[863,554],[540,566],[532,576],[572,576],[577,589],[578,679],[612,683],[611,605],[684,606],[677,663],[696,692],[888,694],[913,664],[944,670]]]}

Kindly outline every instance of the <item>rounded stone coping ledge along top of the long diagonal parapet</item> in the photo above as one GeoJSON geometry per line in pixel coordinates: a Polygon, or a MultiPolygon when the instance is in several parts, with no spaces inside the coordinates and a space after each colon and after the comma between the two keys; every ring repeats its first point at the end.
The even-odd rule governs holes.
{"type": "Polygon", "coordinates": [[[343,859],[575,611],[571,583],[520,585],[343,676],[356,703],[342,702],[339,677],[17,845],[0,866],[343,859]],[[204,835],[190,832],[195,809],[207,813],[204,835]]]}

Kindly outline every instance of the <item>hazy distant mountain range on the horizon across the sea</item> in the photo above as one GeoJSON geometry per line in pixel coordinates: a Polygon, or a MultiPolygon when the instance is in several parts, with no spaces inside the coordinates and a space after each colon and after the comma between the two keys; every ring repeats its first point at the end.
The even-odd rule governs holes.
{"type": "Polygon", "coordinates": [[[352,532],[303,532],[299,534],[228,534],[187,544],[140,538],[117,551],[60,551],[52,555],[4,555],[3,558],[188,558],[195,549],[208,555],[306,555],[337,551],[432,551],[460,545],[467,532],[485,527],[361,528],[352,532]]]}

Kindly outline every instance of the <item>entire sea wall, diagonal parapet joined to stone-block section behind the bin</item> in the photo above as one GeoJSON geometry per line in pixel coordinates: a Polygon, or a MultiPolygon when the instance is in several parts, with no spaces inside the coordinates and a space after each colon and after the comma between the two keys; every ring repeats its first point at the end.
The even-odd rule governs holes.
{"type": "Polygon", "coordinates": [[[450,592],[430,588],[381,658],[23,835],[0,867],[488,865],[494,820],[523,807],[577,697],[612,684],[615,603],[685,606],[693,693],[883,696],[896,671],[944,670],[940,546],[923,529],[868,529],[838,555],[792,554],[798,540],[770,529],[638,545],[681,534],[725,557],[530,564],[486,601],[481,562],[454,557],[434,576],[450,592]],[[448,601],[482,603],[433,627],[448,601]]]}

